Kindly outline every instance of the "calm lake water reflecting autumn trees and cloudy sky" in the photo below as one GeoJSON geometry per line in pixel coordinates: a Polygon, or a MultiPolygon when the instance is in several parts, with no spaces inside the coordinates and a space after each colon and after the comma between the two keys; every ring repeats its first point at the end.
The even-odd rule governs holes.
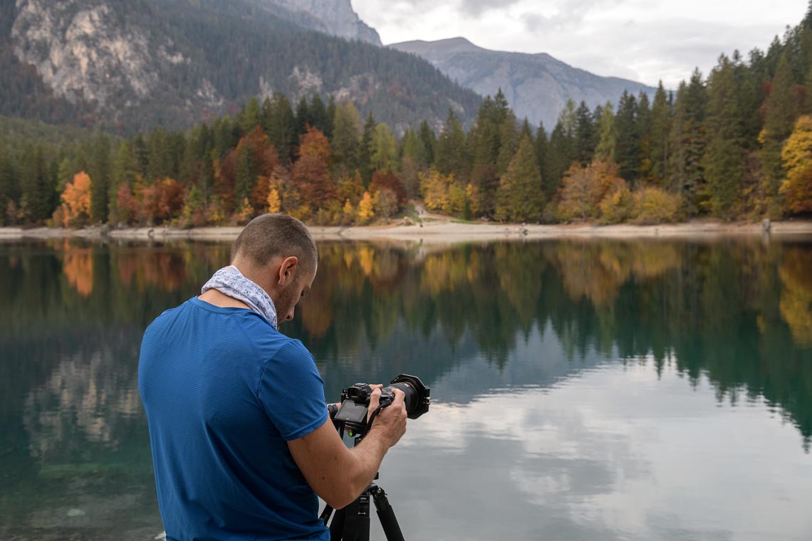
{"type": "MultiPolygon", "coordinates": [[[[380,472],[407,539],[812,539],[812,240],[319,249],[282,330],[328,400],[431,386],[380,472]]],[[[163,530],[140,337],[228,250],[0,243],[0,539],[163,530]]]]}

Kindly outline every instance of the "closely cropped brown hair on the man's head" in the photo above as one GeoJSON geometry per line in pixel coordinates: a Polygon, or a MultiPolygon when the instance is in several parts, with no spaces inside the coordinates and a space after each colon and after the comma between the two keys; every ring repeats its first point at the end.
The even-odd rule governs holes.
{"type": "Polygon", "coordinates": [[[248,222],[231,245],[231,262],[237,255],[265,266],[274,257],[296,255],[316,268],[318,250],[307,227],[287,214],[263,214],[248,222]]]}

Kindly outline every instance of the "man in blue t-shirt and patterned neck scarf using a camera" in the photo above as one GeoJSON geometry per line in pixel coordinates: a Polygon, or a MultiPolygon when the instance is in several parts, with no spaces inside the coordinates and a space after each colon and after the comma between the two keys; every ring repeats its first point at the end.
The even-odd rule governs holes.
{"type": "Polygon", "coordinates": [[[317,496],[335,509],[351,503],[403,436],[395,389],[348,449],[313,357],[277,330],[316,270],[304,224],[257,217],[231,247],[231,266],[145,331],[138,386],[166,539],[330,539],[317,496]]]}

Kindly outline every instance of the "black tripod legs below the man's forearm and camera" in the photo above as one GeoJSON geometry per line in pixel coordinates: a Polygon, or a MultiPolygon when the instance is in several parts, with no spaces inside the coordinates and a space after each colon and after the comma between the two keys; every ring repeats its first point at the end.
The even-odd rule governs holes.
{"type": "MultiPolygon", "coordinates": [[[[378,479],[378,475],[375,475],[378,479]]],[[[389,505],[387,493],[375,483],[371,483],[358,499],[344,509],[335,511],[333,522],[330,522],[330,541],[369,541],[369,498],[375,502],[378,519],[388,541],[404,541],[400,532],[395,511],[389,505]]],[[[330,520],[333,508],[327,505],[322,511],[322,521],[330,520]]]]}

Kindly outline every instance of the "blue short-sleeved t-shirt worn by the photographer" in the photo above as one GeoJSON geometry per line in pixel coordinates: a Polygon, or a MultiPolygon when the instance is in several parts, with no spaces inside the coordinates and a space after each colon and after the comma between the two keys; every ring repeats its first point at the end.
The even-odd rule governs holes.
{"type": "Polygon", "coordinates": [[[138,388],[166,539],[330,539],[286,443],[327,420],[300,341],[191,298],[144,333],[138,388]]]}

